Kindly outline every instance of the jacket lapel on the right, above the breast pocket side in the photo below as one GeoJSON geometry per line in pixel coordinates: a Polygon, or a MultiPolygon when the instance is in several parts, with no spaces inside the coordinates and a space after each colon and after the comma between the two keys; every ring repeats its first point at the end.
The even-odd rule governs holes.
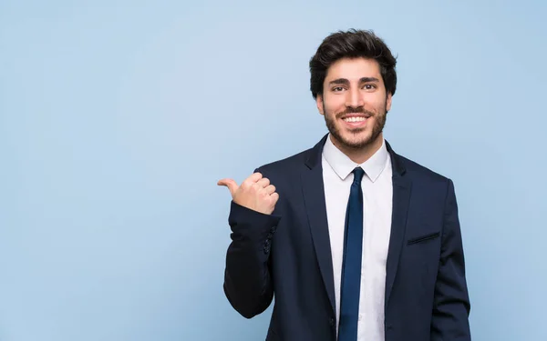
{"type": "Polygon", "coordinates": [[[405,241],[408,204],[412,186],[408,176],[404,176],[405,167],[401,157],[395,154],[389,144],[387,144],[387,149],[391,155],[391,163],[393,165],[393,210],[386,264],[386,306],[391,295],[393,283],[395,282],[401,249],[405,241]]]}

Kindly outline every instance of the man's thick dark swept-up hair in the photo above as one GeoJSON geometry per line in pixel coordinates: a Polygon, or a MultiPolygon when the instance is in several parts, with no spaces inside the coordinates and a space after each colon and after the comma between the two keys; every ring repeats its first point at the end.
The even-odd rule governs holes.
{"type": "Polygon", "coordinates": [[[310,90],[314,98],[323,94],[328,67],[341,58],[372,58],[380,65],[380,75],[387,94],[395,95],[397,87],[396,58],[386,43],[373,31],[350,29],[328,35],[310,60],[310,90]]]}

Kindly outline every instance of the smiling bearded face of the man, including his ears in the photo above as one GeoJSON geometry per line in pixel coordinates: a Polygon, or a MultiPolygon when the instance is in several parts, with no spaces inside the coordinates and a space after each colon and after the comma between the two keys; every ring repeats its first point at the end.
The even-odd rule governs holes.
{"type": "Polygon", "coordinates": [[[391,94],[376,60],[344,58],[328,68],[316,104],[335,144],[360,149],[382,138],[391,94]]]}

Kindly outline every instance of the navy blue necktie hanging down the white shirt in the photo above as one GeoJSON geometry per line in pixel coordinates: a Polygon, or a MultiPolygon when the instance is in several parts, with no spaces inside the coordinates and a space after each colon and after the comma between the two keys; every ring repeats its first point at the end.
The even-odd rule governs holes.
{"type": "Polygon", "coordinates": [[[344,260],[340,290],[340,323],[338,341],[356,341],[361,292],[361,257],[363,255],[363,190],[365,171],[357,167],[349,193],[344,236],[344,260]]]}

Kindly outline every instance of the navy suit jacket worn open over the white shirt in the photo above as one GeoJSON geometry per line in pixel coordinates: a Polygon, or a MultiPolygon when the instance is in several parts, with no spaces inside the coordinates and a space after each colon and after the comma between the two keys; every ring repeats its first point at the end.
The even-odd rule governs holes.
{"type": "MultiPolygon", "coordinates": [[[[272,215],[231,203],[224,293],[247,318],[263,313],[274,301],[266,340],[336,339],[321,163],[326,138],[255,170],[279,193],[272,215]]],[[[386,341],[470,340],[470,300],[453,183],[397,155],[389,144],[387,150],[393,166],[393,215],[386,341]]]]}

